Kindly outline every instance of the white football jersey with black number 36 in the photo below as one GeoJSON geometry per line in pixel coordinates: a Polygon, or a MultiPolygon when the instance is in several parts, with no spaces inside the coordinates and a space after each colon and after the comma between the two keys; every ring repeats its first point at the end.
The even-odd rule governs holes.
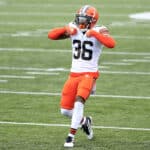
{"type": "MultiPolygon", "coordinates": [[[[70,37],[72,41],[71,72],[97,72],[103,45],[96,38],[87,37],[75,24],[70,23],[69,26],[77,29],[77,34],[70,37]]],[[[93,29],[99,31],[103,27],[93,29]]]]}

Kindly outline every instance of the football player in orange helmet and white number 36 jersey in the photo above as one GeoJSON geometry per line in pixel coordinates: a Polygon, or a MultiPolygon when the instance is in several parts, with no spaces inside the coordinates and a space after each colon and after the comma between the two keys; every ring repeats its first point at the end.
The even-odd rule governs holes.
{"type": "Polygon", "coordinates": [[[116,45],[105,26],[96,26],[98,19],[96,8],[85,5],[77,11],[73,22],[48,32],[49,39],[70,38],[72,42],[72,65],[60,102],[61,113],[71,118],[64,147],[74,146],[80,126],[88,139],[93,138],[92,117],[84,117],[84,104],[99,77],[98,60],[103,46],[114,48],[116,45]]]}

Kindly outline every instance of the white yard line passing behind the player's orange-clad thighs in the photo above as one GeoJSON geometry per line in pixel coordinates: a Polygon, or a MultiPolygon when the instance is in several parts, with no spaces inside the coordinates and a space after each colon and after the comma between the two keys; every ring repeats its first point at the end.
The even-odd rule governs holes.
{"type": "MultiPolygon", "coordinates": [[[[50,92],[29,92],[29,91],[9,91],[0,90],[0,94],[16,94],[16,95],[45,95],[45,96],[61,96],[61,93],[50,93],[50,92]]],[[[103,97],[103,98],[122,98],[122,99],[142,99],[150,100],[150,96],[125,96],[125,95],[102,95],[95,94],[92,97],[103,97]]]]}

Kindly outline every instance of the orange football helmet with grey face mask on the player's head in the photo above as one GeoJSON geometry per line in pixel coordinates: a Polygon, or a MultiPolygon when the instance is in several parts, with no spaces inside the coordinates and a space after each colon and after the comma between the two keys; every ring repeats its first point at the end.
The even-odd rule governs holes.
{"type": "Polygon", "coordinates": [[[99,14],[96,8],[85,5],[77,11],[75,23],[84,32],[95,26],[98,18],[99,14]]]}

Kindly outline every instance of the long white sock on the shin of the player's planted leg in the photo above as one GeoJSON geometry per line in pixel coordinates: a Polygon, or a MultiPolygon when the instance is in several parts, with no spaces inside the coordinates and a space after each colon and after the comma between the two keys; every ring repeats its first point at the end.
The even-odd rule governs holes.
{"type": "Polygon", "coordinates": [[[80,122],[83,118],[83,110],[84,104],[78,101],[75,102],[71,120],[71,128],[78,129],[78,127],[80,126],[80,122]]]}

